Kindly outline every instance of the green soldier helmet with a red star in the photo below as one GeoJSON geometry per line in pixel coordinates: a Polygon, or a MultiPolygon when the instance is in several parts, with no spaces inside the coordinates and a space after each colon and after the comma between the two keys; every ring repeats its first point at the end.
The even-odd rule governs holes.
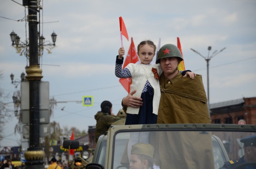
{"type": "Polygon", "coordinates": [[[159,49],[156,63],[160,63],[160,59],[165,57],[179,57],[180,62],[184,60],[180,53],[180,49],[173,44],[165,44],[159,49]]]}

